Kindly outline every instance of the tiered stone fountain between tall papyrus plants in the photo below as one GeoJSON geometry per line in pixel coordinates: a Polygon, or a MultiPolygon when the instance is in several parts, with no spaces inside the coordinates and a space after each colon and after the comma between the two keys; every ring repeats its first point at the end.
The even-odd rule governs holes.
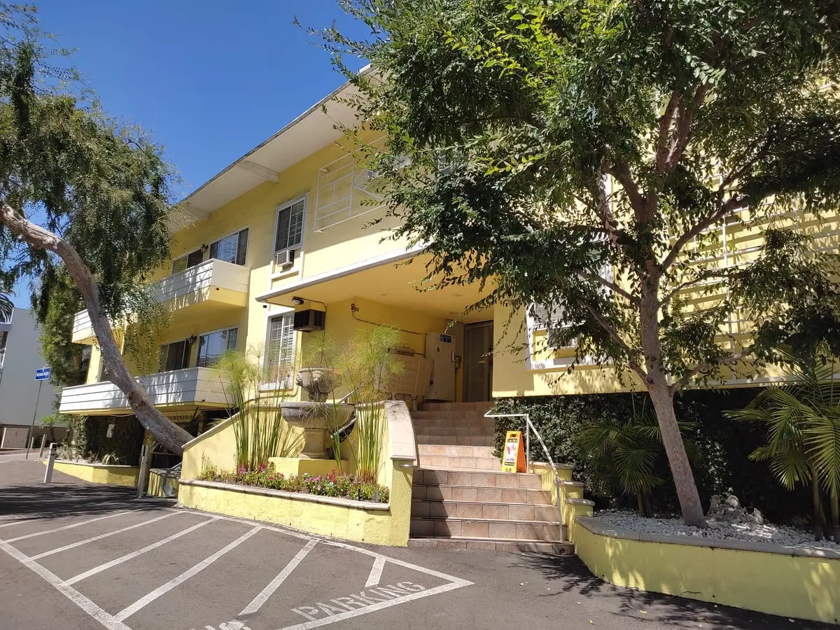
{"type": "Polygon", "coordinates": [[[307,392],[307,401],[281,402],[283,419],[304,433],[299,459],[327,459],[328,431],[344,427],[355,411],[353,405],[327,402],[337,375],[328,368],[302,368],[295,382],[307,392]]]}

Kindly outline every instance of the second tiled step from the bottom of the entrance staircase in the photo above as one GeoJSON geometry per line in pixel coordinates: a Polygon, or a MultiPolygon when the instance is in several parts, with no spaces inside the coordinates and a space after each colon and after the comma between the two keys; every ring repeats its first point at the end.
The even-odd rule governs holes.
{"type": "Polygon", "coordinates": [[[510,521],[503,518],[412,517],[409,536],[450,538],[512,538],[514,540],[562,541],[559,522],[510,521]]]}

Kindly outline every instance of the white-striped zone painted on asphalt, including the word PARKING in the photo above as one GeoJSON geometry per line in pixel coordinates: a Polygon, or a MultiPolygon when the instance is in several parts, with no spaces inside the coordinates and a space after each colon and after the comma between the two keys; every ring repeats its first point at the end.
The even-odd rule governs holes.
{"type": "Polygon", "coordinates": [[[0,549],[109,630],[303,630],[471,584],[334,540],[149,505],[8,518],[0,549]]]}

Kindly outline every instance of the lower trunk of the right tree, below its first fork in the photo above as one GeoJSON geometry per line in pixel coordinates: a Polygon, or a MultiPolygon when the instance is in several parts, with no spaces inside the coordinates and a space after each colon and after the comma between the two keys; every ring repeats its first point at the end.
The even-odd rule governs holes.
{"type": "Polygon", "coordinates": [[[664,383],[661,386],[648,384],[648,393],[651,402],[654,403],[659,431],[662,433],[662,444],[665,447],[665,454],[668,455],[671,475],[674,476],[674,486],[677,498],[680,500],[683,520],[686,525],[707,528],[708,523],[703,514],[700,493],[697,491],[694,473],[691,471],[691,464],[680,434],[680,426],[677,424],[674,396],[664,383]]]}

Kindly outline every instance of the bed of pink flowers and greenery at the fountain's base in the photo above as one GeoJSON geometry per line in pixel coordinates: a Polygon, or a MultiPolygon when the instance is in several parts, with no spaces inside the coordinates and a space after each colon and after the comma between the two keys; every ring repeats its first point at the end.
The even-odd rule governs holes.
{"type": "Polygon", "coordinates": [[[239,484],[239,486],[257,486],[270,488],[271,490],[301,492],[315,496],[335,496],[354,501],[374,501],[375,503],[387,503],[390,497],[390,492],[386,486],[356,480],[351,475],[339,474],[335,470],[328,475],[312,476],[303,473],[303,475],[286,477],[286,475],[276,472],[271,465],[260,470],[240,469],[235,471],[218,470],[215,466],[206,466],[202,470],[200,479],[239,484]]]}

